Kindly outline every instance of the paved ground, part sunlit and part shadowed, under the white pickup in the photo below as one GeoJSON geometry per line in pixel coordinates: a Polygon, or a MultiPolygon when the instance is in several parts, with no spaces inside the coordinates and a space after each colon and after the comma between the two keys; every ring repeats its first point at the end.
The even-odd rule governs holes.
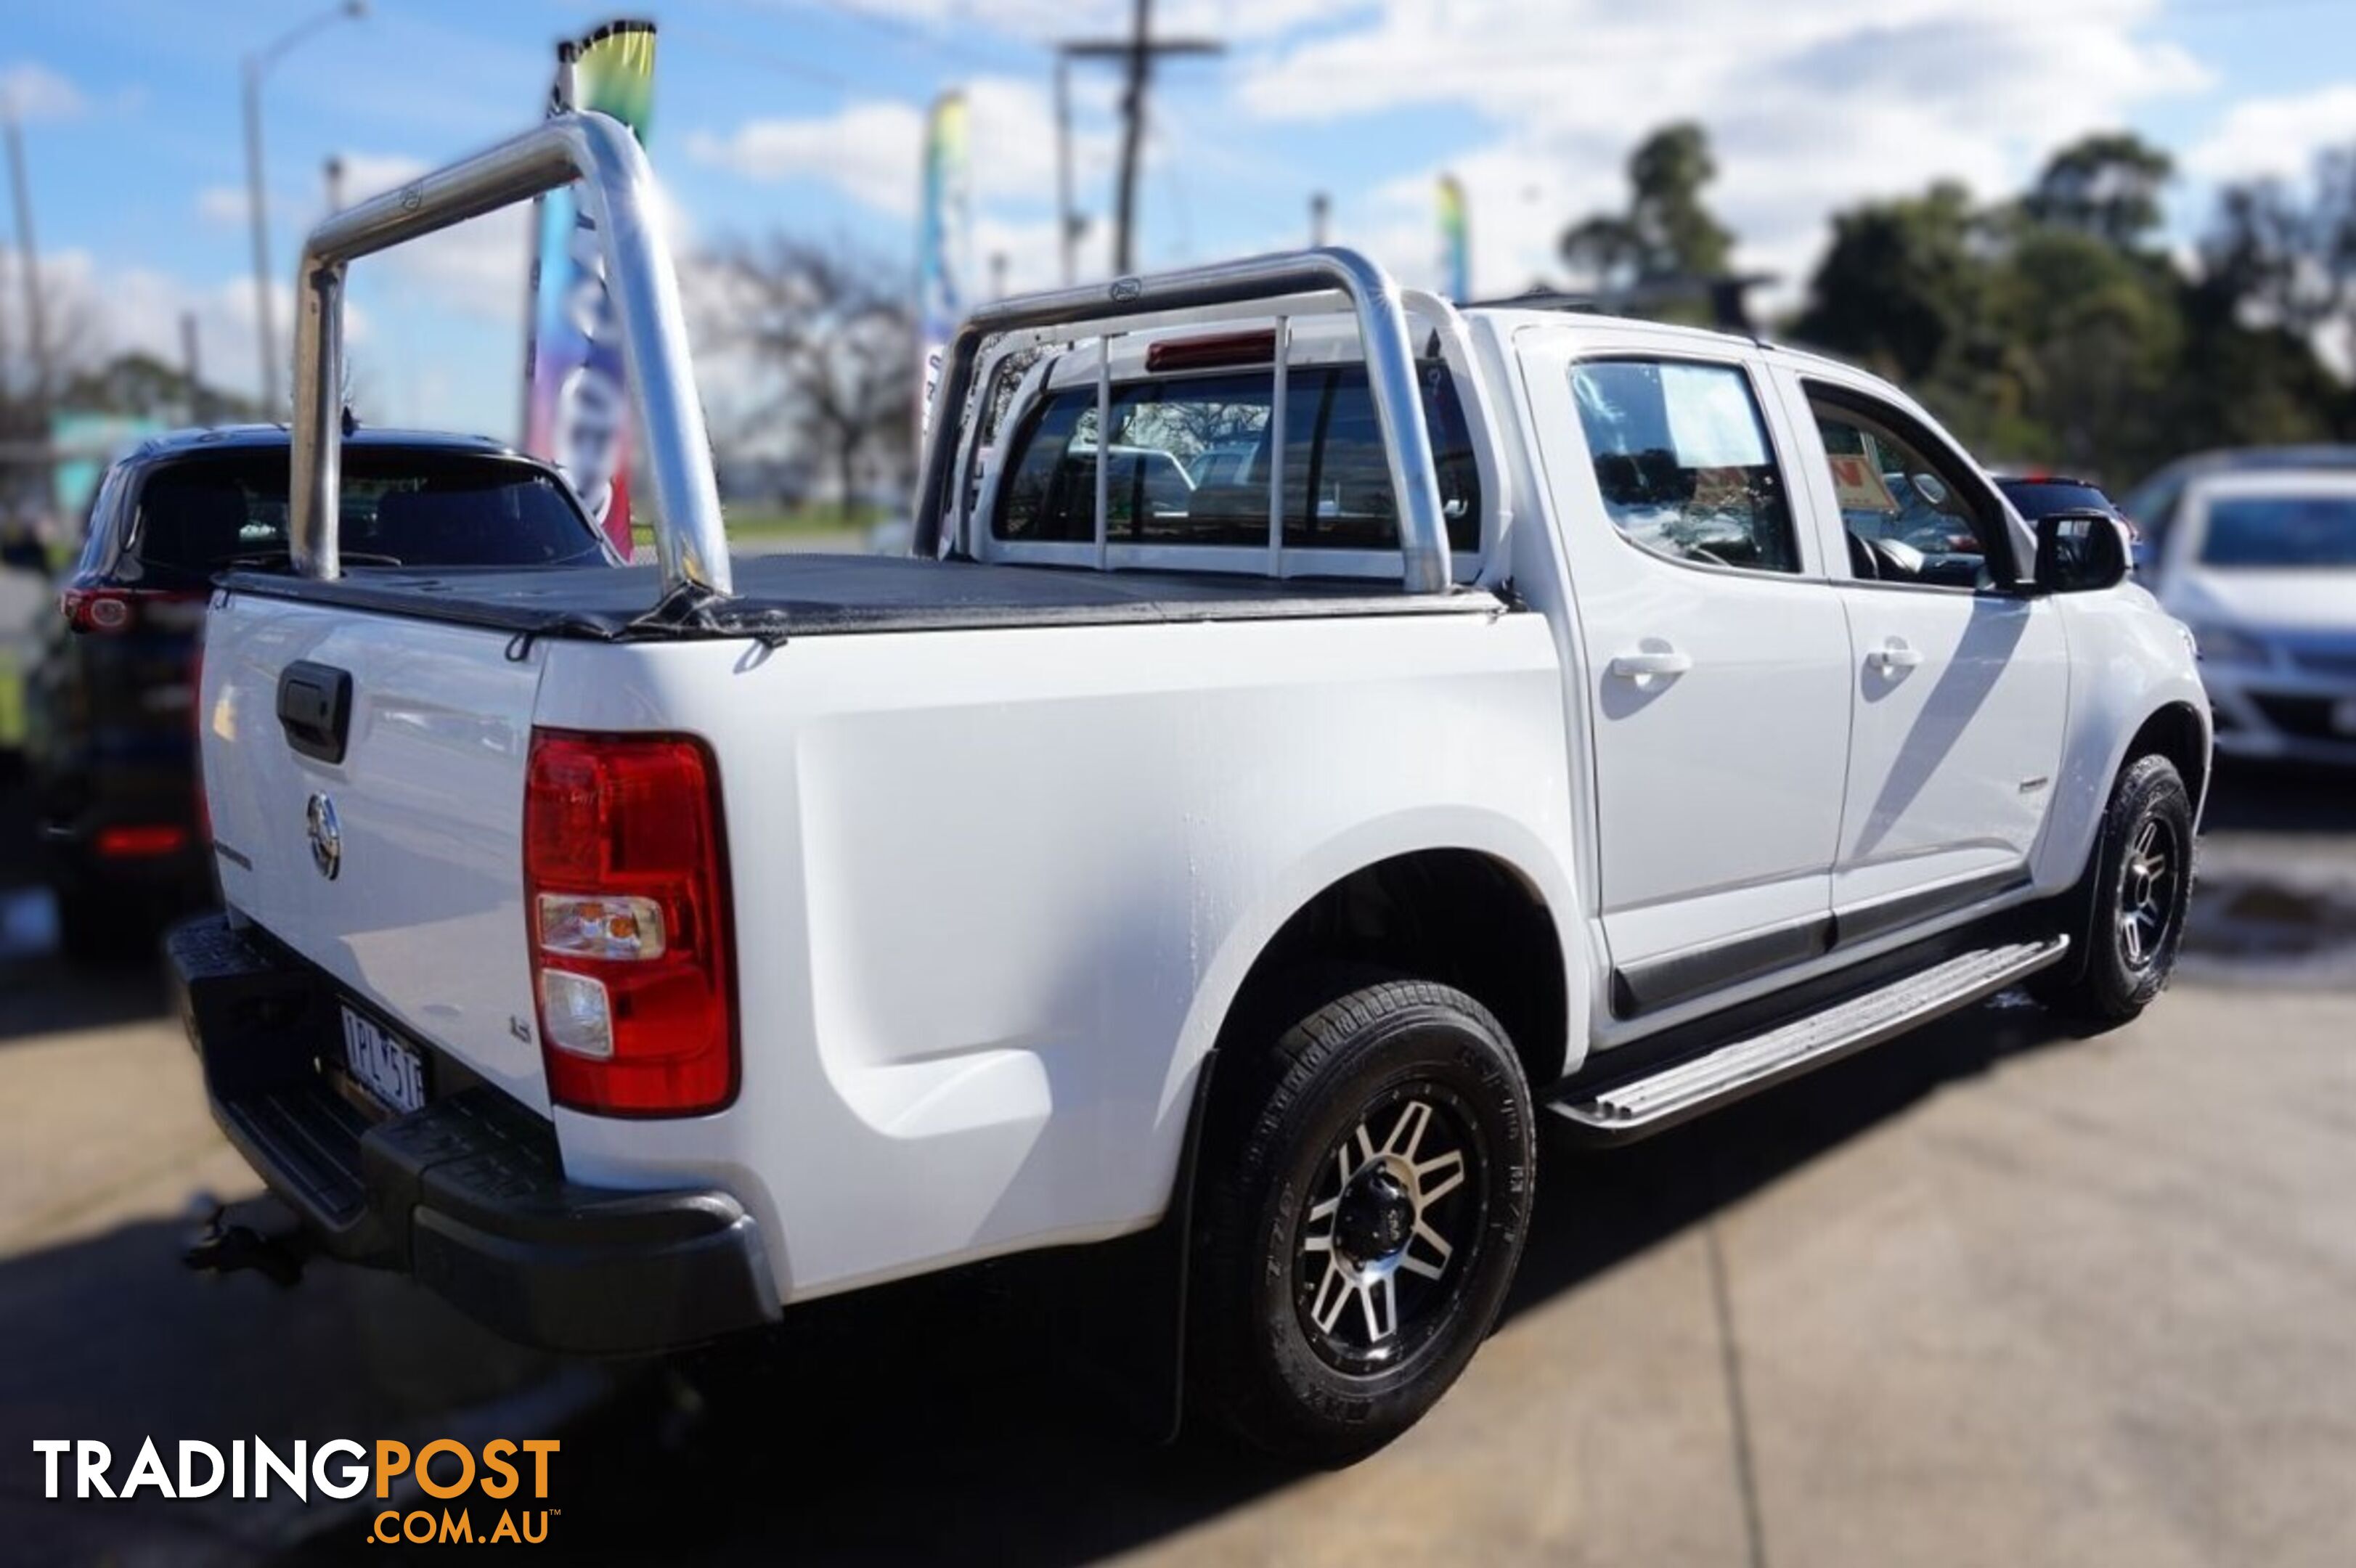
{"type": "MultiPolygon", "coordinates": [[[[0,810],[0,888],[24,848],[0,810]]],[[[2356,1561],[2347,779],[2226,772],[2193,951],[2127,1029],[2007,996],[1633,1149],[1550,1135],[1496,1337],[1336,1474],[1136,1436],[1041,1328],[1051,1267],[650,1366],[332,1264],[188,1274],[254,1182],[153,965],[66,970],[52,925],[0,892],[12,1563],[403,1556],[365,1495],[52,1502],[31,1450],[243,1434],[556,1434],[561,1561],[2356,1561]]]]}

